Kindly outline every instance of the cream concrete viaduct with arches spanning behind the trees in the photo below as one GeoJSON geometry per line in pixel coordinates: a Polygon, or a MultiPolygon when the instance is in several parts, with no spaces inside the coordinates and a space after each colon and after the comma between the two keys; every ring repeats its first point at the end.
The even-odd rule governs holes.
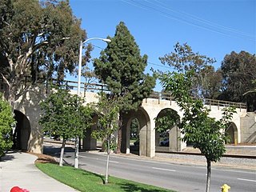
{"type": "MultiPolygon", "coordinates": [[[[71,93],[76,94],[76,86],[69,85],[69,87],[71,88],[71,93]]],[[[90,86],[84,86],[84,88],[86,88],[86,91],[82,92],[82,96],[86,98],[86,102],[97,102],[97,90],[102,88],[95,89],[95,87],[91,88],[90,86]],[[94,90],[94,92],[91,92],[91,90],[94,90]]],[[[42,99],[46,98],[46,89],[45,85],[35,86],[15,102],[14,114],[18,123],[14,131],[14,138],[15,146],[20,150],[42,153],[43,135],[38,125],[41,110],[38,104],[42,99]]],[[[0,91],[3,92],[4,90],[5,86],[0,83],[0,91]]],[[[236,106],[237,113],[234,114],[228,130],[231,143],[256,142],[256,115],[255,113],[247,113],[244,103],[210,99],[204,102],[206,103],[205,106],[211,110],[210,116],[216,119],[221,118],[224,106],[236,106]]],[[[162,147],[159,146],[159,134],[154,130],[154,118],[159,117],[163,111],[168,109],[177,111],[178,115],[182,117],[182,111],[174,100],[162,97],[160,94],[154,94],[150,98],[145,98],[142,101],[142,106],[136,112],[126,114],[122,131],[122,152],[130,153],[130,124],[134,118],[137,118],[139,122],[139,155],[154,157],[156,150],[162,150],[162,147]]],[[[88,130],[86,133],[83,148],[95,150],[96,141],[90,138],[90,132],[91,130],[88,130]]],[[[178,130],[177,126],[172,127],[169,132],[170,146],[167,146],[165,150],[181,151],[186,148],[186,143],[181,142],[178,139],[179,137],[182,137],[180,130],[178,130]]]]}

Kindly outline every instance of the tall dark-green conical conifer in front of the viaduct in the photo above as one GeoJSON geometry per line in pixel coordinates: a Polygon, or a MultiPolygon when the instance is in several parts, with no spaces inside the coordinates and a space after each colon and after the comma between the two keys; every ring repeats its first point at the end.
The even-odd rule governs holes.
{"type": "Polygon", "coordinates": [[[95,74],[105,83],[111,94],[122,98],[119,106],[118,152],[122,141],[122,117],[129,110],[137,110],[142,99],[152,92],[155,78],[143,74],[147,56],[141,56],[138,45],[124,22],[116,28],[101,56],[94,60],[95,74]]]}

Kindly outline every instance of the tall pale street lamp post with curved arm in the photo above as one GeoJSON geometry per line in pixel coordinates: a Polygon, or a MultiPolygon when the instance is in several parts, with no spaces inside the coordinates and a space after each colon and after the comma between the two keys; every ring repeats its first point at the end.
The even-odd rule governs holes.
{"type": "MultiPolygon", "coordinates": [[[[86,41],[80,42],[79,47],[79,63],[78,63],[78,97],[80,96],[80,88],[81,88],[81,71],[82,71],[82,45],[90,40],[102,40],[103,42],[111,42],[109,38],[87,38],[86,41]]],[[[74,153],[74,167],[78,168],[78,145],[79,145],[79,138],[75,139],[75,153],[74,153]]]]}

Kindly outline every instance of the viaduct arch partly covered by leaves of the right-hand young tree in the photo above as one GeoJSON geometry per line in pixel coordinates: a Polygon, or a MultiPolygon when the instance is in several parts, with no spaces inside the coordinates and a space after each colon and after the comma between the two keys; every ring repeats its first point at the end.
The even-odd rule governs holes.
{"type": "MultiPolygon", "coordinates": [[[[180,121],[180,116],[176,110],[165,108],[162,109],[157,118],[162,118],[165,116],[171,117],[174,125],[170,126],[166,132],[159,133],[155,131],[155,148],[156,150],[167,150],[167,151],[180,151],[181,150],[181,131],[178,129],[177,122],[180,121]]],[[[158,122],[156,122],[158,126],[158,122]]]]}

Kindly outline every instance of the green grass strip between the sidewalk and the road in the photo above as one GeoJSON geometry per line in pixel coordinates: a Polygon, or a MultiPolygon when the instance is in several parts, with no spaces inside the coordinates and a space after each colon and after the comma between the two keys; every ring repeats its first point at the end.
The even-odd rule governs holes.
{"type": "Polygon", "coordinates": [[[109,183],[104,185],[104,176],[93,174],[86,170],[75,169],[72,166],[58,166],[53,163],[36,163],[36,166],[50,177],[80,191],[174,192],[174,190],[165,190],[156,186],[145,185],[114,177],[109,177],[109,183]]]}

